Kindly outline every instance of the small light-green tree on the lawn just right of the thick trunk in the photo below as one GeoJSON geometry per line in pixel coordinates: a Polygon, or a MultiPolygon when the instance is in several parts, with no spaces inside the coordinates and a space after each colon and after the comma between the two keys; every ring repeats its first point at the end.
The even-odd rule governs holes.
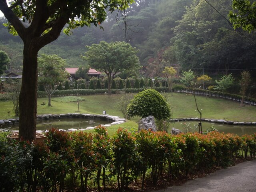
{"type": "Polygon", "coordinates": [[[56,90],[58,84],[64,82],[69,74],[65,70],[66,62],[57,55],[42,54],[38,58],[38,81],[44,86],[44,90],[48,94],[48,106],[51,104],[51,96],[56,90]]]}

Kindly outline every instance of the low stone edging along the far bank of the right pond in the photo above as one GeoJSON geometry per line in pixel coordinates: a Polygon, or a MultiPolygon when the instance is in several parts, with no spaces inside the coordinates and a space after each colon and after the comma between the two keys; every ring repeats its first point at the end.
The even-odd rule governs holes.
{"type": "MultiPolygon", "coordinates": [[[[179,119],[172,119],[173,121],[200,121],[200,118],[179,118],[179,119]]],[[[214,123],[223,123],[229,125],[256,125],[256,122],[236,122],[236,121],[229,121],[224,119],[205,119],[202,118],[202,121],[214,122],[214,123]]]]}

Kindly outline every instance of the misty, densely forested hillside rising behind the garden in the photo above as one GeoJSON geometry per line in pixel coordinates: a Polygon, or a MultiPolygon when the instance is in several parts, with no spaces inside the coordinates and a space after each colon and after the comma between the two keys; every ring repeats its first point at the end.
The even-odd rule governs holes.
{"type": "MultiPolygon", "coordinates": [[[[99,27],[78,28],[72,34],[60,35],[58,40],[42,48],[39,54],[57,54],[66,59],[69,67],[85,64],[80,55],[86,45],[100,41],[127,41],[140,51],[143,66],[140,75],[163,76],[164,66],[179,71],[194,70],[197,74],[220,77],[232,73],[240,76],[251,69],[255,77],[256,36],[233,30],[228,13],[230,0],[136,0],[127,10],[126,24],[116,23],[116,14],[108,16],[99,27]]],[[[22,41],[8,33],[0,18],[0,50],[10,59],[10,70],[22,70],[22,41]]]]}

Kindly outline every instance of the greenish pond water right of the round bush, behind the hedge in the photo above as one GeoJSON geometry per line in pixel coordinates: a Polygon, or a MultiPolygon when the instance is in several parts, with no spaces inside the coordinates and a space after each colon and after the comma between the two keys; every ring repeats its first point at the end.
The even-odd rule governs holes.
{"type": "MultiPolygon", "coordinates": [[[[168,132],[171,132],[172,127],[181,130],[184,132],[185,130],[190,129],[191,131],[198,131],[198,123],[199,121],[181,121],[181,122],[175,122],[172,123],[170,126],[170,130],[168,132]]],[[[211,126],[214,126],[219,132],[224,133],[234,133],[239,136],[242,136],[244,134],[254,134],[256,133],[256,126],[255,125],[228,125],[228,124],[222,124],[222,123],[214,123],[214,122],[205,122],[202,121],[202,130],[203,132],[206,131],[211,126]]]]}

